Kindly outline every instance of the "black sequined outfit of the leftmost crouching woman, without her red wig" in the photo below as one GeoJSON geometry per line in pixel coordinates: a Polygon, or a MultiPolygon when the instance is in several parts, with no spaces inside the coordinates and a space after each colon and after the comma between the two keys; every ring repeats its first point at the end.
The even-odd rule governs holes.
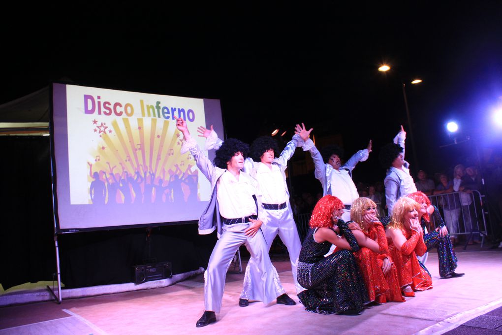
{"type": "Polygon", "coordinates": [[[359,250],[345,222],[337,223],[351,250],[341,250],[324,257],[331,243],[314,241],[315,229],[309,229],[298,259],[298,282],[307,290],[298,294],[300,302],[310,312],[340,314],[360,311],[368,302],[359,266],[352,252],[359,250]]]}

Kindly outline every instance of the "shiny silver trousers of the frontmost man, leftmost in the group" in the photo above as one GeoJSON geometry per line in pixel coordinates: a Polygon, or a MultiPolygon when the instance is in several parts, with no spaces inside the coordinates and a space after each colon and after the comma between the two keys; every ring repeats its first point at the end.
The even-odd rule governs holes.
{"type": "Polygon", "coordinates": [[[205,310],[219,313],[225,289],[226,272],[241,245],[246,246],[251,255],[250,260],[256,264],[257,282],[254,286],[253,300],[269,304],[281,295],[276,291],[277,284],[274,283],[274,273],[277,274],[277,271],[270,261],[269,248],[263,233],[260,230],[253,238],[247,237],[244,231],[249,226],[250,223],[223,225],[221,237],[214,246],[207,270],[204,272],[205,310]]]}

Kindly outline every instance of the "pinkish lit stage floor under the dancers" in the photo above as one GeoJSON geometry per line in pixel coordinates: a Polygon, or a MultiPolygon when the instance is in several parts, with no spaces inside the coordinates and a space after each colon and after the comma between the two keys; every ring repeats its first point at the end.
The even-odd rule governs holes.
{"type": "MultiPolygon", "coordinates": [[[[417,292],[404,303],[372,306],[358,316],[306,312],[295,295],[289,261],[273,257],[283,286],[295,306],[261,302],[239,307],[242,274],[228,273],[218,321],[196,328],[204,307],[204,279],[198,275],[175,285],[142,291],[33,303],[0,308],[0,335],[6,334],[292,334],[444,333],[502,306],[502,250],[469,246],[457,251],[457,272],[440,279],[437,254],[427,268],[432,290],[417,292]]],[[[244,264],[245,266],[245,264],[244,264]]]]}

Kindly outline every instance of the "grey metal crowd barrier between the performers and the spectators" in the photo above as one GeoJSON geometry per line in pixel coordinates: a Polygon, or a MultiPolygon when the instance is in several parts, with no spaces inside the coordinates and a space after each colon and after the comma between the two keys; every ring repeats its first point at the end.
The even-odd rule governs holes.
{"type": "MultiPolygon", "coordinates": [[[[460,236],[465,237],[464,249],[469,242],[477,241],[481,243],[482,247],[484,238],[487,236],[483,197],[484,195],[481,195],[477,190],[429,196],[431,203],[439,208],[450,237],[455,239],[460,236]]],[[[386,215],[382,204],[377,203],[376,205],[380,216],[386,215]]],[[[296,226],[302,243],[309,230],[310,215],[311,213],[295,215],[296,226]]],[[[428,227],[428,229],[433,230],[439,225],[440,222],[435,222],[434,217],[432,217],[431,227],[428,227]]]]}

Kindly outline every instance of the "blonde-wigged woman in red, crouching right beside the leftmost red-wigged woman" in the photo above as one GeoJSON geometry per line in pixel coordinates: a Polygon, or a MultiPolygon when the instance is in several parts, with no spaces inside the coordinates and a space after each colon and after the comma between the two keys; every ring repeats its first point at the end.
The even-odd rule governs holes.
{"type": "Polygon", "coordinates": [[[352,233],[361,249],[354,253],[364,277],[371,302],[403,302],[396,266],[389,256],[384,226],[377,218],[376,204],[368,198],[357,198],[350,207],[350,218],[360,230],[352,233]]]}

